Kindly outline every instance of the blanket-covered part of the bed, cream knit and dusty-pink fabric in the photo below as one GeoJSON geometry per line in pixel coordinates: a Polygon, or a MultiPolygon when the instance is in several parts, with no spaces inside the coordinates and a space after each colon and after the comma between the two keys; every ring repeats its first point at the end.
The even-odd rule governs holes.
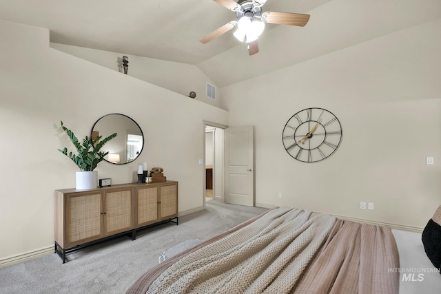
{"type": "Polygon", "coordinates": [[[165,260],[127,293],[398,293],[389,227],[277,207],[165,260]]]}

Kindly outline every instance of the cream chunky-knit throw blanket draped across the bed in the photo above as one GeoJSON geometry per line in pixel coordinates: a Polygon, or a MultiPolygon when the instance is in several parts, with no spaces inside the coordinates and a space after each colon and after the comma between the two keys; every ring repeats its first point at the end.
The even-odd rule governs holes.
{"type": "Polygon", "coordinates": [[[287,293],[336,218],[280,208],[191,253],[165,271],[147,293],[287,293]]]}

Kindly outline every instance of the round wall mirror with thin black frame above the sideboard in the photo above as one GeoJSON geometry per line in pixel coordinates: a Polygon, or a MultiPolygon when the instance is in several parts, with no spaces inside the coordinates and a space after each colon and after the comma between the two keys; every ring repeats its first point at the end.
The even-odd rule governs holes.
{"type": "Polygon", "coordinates": [[[124,114],[107,114],[96,120],[90,137],[94,140],[98,136],[106,138],[116,133],[116,137],[107,142],[101,151],[109,152],[105,161],[116,165],[125,165],[135,160],[144,147],[144,135],[141,127],[124,114]]]}

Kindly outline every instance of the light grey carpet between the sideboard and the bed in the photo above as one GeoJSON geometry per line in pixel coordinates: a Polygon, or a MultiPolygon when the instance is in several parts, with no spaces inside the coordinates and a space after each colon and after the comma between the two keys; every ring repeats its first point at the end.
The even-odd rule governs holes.
{"type": "Polygon", "coordinates": [[[136,240],[122,236],[68,255],[57,254],[0,269],[0,293],[125,293],[158,264],[167,249],[186,240],[211,238],[267,209],[206,203],[206,209],[139,231],[136,240]]]}

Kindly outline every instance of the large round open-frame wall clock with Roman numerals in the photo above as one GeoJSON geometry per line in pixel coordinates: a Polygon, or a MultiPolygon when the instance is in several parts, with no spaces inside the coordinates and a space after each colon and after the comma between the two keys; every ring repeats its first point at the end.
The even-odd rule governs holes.
{"type": "Polygon", "coordinates": [[[322,108],[307,108],[291,116],[283,128],[283,145],[290,156],[302,162],[328,158],[342,140],[340,120],[322,108]]]}

